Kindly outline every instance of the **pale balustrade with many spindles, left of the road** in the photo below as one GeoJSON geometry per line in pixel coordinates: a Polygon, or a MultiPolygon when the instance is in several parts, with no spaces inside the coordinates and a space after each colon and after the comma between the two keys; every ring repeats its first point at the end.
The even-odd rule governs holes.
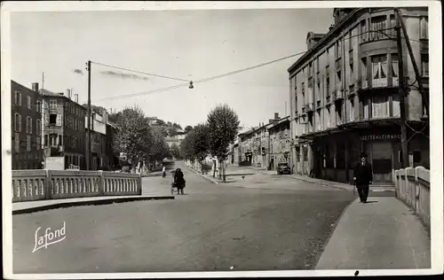
{"type": "Polygon", "coordinates": [[[81,170],[12,170],[12,202],[141,195],[138,174],[81,170]]]}

